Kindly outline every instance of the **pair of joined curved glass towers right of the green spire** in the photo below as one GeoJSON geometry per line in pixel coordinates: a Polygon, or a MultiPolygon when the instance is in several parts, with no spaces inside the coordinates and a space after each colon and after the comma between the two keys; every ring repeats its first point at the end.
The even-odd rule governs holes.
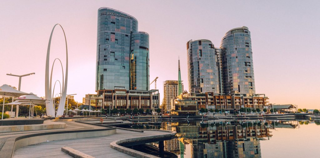
{"type": "Polygon", "coordinates": [[[196,94],[255,94],[251,36],[248,27],[234,28],[220,48],[209,40],[188,41],[189,91],[196,94]]]}

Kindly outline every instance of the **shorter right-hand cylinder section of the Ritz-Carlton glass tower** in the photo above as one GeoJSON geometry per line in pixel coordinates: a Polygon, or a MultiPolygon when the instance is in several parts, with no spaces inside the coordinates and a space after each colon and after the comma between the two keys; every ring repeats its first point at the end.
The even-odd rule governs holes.
{"type": "Polygon", "coordinates": [[[130,90],[149,90],[149,34],[131,34],[130,90]]]}

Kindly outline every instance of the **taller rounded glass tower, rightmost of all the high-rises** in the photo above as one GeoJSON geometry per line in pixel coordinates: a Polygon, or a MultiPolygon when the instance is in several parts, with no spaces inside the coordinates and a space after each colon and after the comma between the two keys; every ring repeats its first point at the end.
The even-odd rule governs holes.
{"type": "Polygon", "coordinates": [[[223,93],[255,94],[251,36],[248,27],[228,31],[221,41],[223,93]]]}

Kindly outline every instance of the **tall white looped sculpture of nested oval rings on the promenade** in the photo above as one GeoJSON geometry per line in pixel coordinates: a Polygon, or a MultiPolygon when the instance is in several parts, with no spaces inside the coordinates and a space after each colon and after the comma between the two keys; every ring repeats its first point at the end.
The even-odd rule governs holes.
{"type": "MultiPolygon", "coordinates": [[[[57,59],[57,58],[56,58],[57,59]]],[[[55,59],[55,60],[56,60],[55,59]]],[[[54,61],[55,61],[54,60],[54,61]]],[[[60,61],[60,59],[58,59],[60,61]]],[[[60,61],[61,63],[61,61],[60,61]]],[[[62,63],[61,63],[61,67],[62,67],[62,63]]],[[[63,68],[62,68],[62,74],[63,74],[63,68]]],[[[47,58],[46,58],[46,63],[45,63],[45,98],[48,100],[48,102],[46,102],[46,112],[47,115],[49,116],[61,116],[63,115],[63,111],[64,111],[64,107],[65,107],[65,102],[66,102],[66,96],[67,96],[67,85],[68,85],[68,47],[67,47],[67,38],[66,38],[66,34],[62,28],[62,26],[60,24],[56,24],[53,26],[52,31],[51,31],[51,35],[49,38],[49,44],[48,44],[48,49],[47,49],[47,58]],[[66,42],[66,75],[64,80],[62,80],[62,94],[61,94],[61,99],[59,102],[59,106],[58,106],[58,111],[57,114],[55,115],[55,111],[53,108],[53,100],[52,100],[52,70],[53,70],[53,64],[52,64],[52,70],[51,70],[51,75],[50,75],[50,82],[49,82],[49,59],[50,59],[50,46],[51,46],[51,39],[52,39],[52,34],[54,31],[54,28],[59,25],[63,31],[63,35],[64,35],[64,39],[66,42]]]]}

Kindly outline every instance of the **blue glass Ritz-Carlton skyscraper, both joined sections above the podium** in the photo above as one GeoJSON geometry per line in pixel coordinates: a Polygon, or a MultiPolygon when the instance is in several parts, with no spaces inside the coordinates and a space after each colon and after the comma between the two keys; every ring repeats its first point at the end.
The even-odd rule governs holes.
{"type": "Polygon", "coordinates": [[[111,8],[98,10],[96,91],[149,90],[149,35],[138,21],[111,8]]]}

